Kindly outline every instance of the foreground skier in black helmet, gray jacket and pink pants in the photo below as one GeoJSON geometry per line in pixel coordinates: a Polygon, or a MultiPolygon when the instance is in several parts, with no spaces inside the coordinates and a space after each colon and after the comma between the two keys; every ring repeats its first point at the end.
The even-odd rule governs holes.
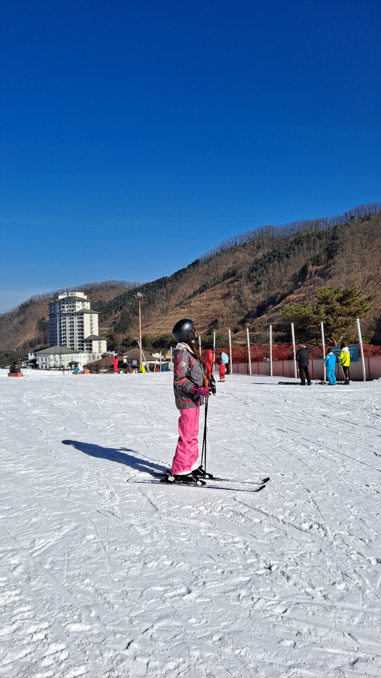
{"type": "Polygon", "coordinates": [[[172,329],[172,336],[177,340],[172,358],[173,390],[180,416],[179,440],[168,480],[200,485],[198,477],[202,473],[197,472],[200,406],[204,398],[209,398],[211,388],[204,386],[205,367],[195,344],[193,320],[179,320],[172,329]]]}

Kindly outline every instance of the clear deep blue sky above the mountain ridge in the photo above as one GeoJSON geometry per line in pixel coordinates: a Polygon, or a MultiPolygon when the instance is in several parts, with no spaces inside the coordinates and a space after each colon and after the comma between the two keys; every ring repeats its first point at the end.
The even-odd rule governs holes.
{"type": "Polygon", "coordinates": [[[380,1],[1,0],[0,25],[0,312],[380,200],[380,1]]]}

